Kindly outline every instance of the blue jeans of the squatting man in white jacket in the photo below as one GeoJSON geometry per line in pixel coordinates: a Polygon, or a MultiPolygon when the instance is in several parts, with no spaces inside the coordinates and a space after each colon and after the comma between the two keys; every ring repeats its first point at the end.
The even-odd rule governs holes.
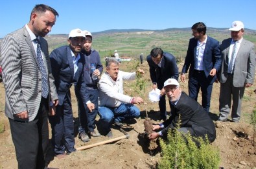
{"type": "Polygon", "coordinates": [[[130,103],[122,103],[116,108],[99,106],[100,122],[107,131],[110,131],[113,121],[122,122],[124,119],[137,118],[140,114],[139,108],[130,103]]]}

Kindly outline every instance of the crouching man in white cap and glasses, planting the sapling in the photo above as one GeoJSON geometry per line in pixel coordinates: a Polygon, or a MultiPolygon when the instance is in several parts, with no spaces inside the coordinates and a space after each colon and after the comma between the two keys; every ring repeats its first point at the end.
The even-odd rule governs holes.
{"type": "Polygon", "coordinates": [[[153,130],[160,130],[148,135],[149,139],[157,137],[167,137],[169,129],[175,129],[180,123],[179,132],[190,133],[194,137],[207,135],[210,142],[215,141],[215,124],[204,110],[204,108],[194,99],[181,91],[180,84],[176,79],[167,79],[164,83],[165,94],[173,105],[172,115],[167,121],[153,125],[153,130]]]}

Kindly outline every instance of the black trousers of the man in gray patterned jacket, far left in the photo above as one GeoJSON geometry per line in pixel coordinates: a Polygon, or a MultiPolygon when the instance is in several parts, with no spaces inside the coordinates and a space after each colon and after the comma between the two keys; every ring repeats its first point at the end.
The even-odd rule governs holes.
{"type": "Polygon", "coordinates": [[[19,169],[45,168],[49,141],[47,103],[47,99],[42,97],[38,115],[33,121],[21,122],[9,119],[19,169]]]}

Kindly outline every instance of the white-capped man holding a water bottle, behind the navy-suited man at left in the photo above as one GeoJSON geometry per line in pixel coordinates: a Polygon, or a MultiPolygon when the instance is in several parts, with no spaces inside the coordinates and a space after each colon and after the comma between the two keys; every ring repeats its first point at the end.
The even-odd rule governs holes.
{"type": "MultiPolygon", "coordinates": [[[[93,35],[91,32],[84,30],[84,34],[86,35],[86,41],[84,43],[84,48],[82,50],[82,57],[86,61],[84,65],[84,75],[83,79],[86,85],[86,91],[82,92],[80,95],[80,91],[76,90],[76,97],[78,101],[78,117],[79,117],[79,128],[78,137],[83,141],[89,141],[89,136],[91,137],[99,137],[100,134],[95,129],[95,118],[98,113],[98,76],[103,71],[102,63],[100,62],[99,52],[91,48],[93,42],[93,35]],[[92,71],[91,67],[94,66],[95,70],[92,71]],[[93,79],[93,76],[96,78],[93,79]],[[85,96],[85,97],[80,97],[85,96]],[[82,98],[86,98],[86,100],[82,100],[82,98]]],[[[78,85],[76,85],[77,89],[78,85]]],[[[78,87],[79,88],[79,87],[78,87]]]]}

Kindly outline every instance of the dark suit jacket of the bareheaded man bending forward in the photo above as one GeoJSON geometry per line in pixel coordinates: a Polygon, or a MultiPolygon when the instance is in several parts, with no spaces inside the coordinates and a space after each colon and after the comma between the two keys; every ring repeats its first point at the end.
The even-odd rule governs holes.
{"type": "Polygon", "coordinates": [[[157,88],[163,88],[163,83],[169,78],[174,78],[178,81],[179,70],[174,55],[163,52],[161,68],[154,63],[151,55],[146,57],[146,61],[148,61],[151,81],[152,83],[157,83],[157,88]]]}

